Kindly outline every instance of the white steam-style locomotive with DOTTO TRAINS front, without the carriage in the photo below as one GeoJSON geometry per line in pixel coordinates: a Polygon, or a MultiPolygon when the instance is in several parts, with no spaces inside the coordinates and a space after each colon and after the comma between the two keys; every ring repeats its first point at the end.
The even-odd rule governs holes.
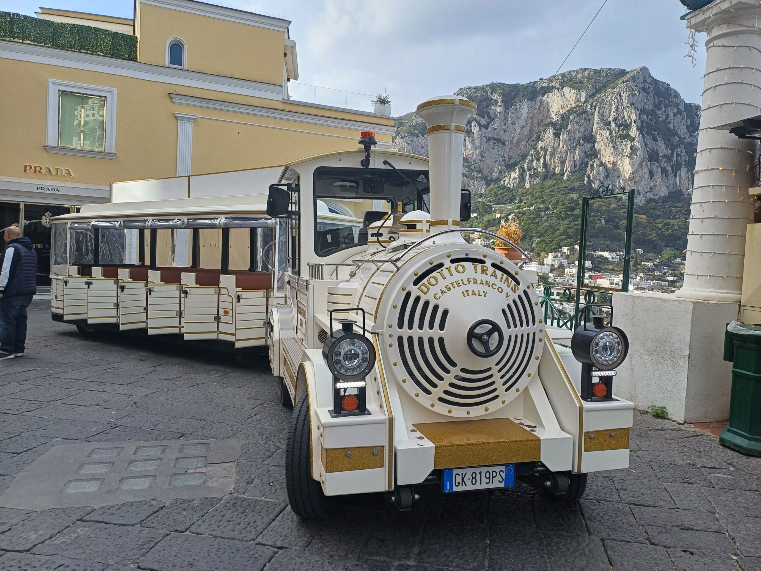
{"type": "Polygon", "coordinates": [[[535,276],[463,239],[476,231],[460,225],[475,112],[464,97],[418,107],[429,177],[418,158],[370,152],[364,133],[359,167],[346,155],[303,161],[270,190],[268,214],[301,238],[285,304],[270,311],[269,354],[294,404],[286,483],[302,518],[355,493],[406,509],[422,484],[451,493],[521,478],[576,499],[589,472],[629,464],[633,405],[611,383],[626,336],[595,317],[572,350],[570,332],[543,324],[535,276]],[[317,200],[363,219],[366,245],[345,226],[319,228],[317,200]]]}

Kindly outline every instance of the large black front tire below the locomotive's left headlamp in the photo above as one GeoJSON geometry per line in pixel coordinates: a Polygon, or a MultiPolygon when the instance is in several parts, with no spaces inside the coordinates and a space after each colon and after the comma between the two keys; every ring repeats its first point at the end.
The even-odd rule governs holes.
{"type": "Polygon", "coordinates": [[[285,490],[293,512],[302,519],[324,519],[330,515],[329,499],[320,483],[310,473],[311,434],[309,400],[304,394],[298,399],[288,426],[285,445],[285,490]]]}

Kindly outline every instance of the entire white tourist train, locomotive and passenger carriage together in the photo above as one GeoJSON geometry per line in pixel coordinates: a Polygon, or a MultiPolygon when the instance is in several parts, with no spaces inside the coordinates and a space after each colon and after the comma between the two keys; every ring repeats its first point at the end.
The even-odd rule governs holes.
{"type": "Polygon", "coordinates": [[[53,219],[54,320],[269,352],[302,518],[358,493],[409,509],[425,484],[577,499],[590,472],[629,465],[626,335],[595,308],[573,335],[546,327],[525,256],[463,238],[492,235],[461,225],[476,104],[417,113],[429,161],[363,132],[277,169],[114,184],[111,203],[53,219]]]}

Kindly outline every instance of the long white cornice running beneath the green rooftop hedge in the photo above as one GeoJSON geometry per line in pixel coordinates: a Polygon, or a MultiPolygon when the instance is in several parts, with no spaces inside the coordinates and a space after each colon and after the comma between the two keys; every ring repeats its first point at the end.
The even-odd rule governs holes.
{"type": "Polygon", "coordinates": [[[74,52],[68,49],[58,49],[49,46],[37,46],[33,43],[0,40],[0,58],[17,59],[24,62],[58,65],[59,67],[84,69],[89,72],[122,75],[124,77],[158,81],[171,85],[183,85],[189,88],[210,89],[261,97],[263,99],[281,100],[282,85],[249,81],[247,79],[228,78],[224,75],[192,72],[189,69],[151,65],[143,62],[132,62],[128,59],[117,59],[109,56],[99,56],[94,53],[74,52]]]}

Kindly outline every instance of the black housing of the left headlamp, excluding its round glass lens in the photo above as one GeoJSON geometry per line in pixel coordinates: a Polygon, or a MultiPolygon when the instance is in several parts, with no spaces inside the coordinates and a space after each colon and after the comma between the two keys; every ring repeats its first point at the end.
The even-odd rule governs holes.
{"type": "MultiPolygon", "coordinates": [[[[333,309],[329,314],[330,318],[330,337],[325,340],[323,344],[323,359],[325,359],[326,365],[333,374],[333,410],[330,411],[331,416],[349,416],[355,414],[367,413],[367,400],[366,400],[366,384],[365,377],[373,370],[375,366],[375,348],[370,340],[365,337],[365,310],[362,308],[352,309],[333,309]],[[362,312],[362,333],[354,332],[354,325],[356,321],[344,320],[339,321],[341,329],[333,330],[333,312],[345,312],[345,311],[361,311],[362,312]],[[355,339],[364,344],[368,349],[369,359],[367,365],[360,372],[355,375],[344,375],[336,368],[333,363],[333,352],[336,347],[342,341],[355,339]],[[354,384],[355,386],[345,386],[347,384],[354,384]],[[357,407],[354,410],[345,410],[343,406],[344,397],[350,394],[349,391],[356,389],[357,407]]],[[[354,394],[354,393],[351,393],[354,394]]]]}

